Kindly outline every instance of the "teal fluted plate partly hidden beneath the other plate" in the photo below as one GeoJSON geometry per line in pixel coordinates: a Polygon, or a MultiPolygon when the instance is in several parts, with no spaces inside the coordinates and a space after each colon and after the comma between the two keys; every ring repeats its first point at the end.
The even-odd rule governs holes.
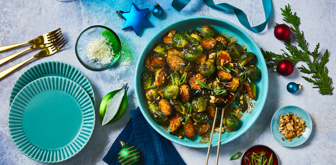
{"type": "Polygon", "coordinates": [[[17,79],[12,92],[10,93],[9,107],[12,105],[13,99],[17,93],[23,87],[36,79],[47,76],[64,77],[76,82],[89,94],[93,102],[93,106],[95,106],[95,97],[92,86],[81,71],[74,66],[61,61],[46,61],[29,68],[17,79]]]}

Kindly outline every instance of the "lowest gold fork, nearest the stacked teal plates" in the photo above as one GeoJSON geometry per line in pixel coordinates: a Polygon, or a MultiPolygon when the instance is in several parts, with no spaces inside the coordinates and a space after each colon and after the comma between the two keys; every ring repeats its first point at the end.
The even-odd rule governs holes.
{"type": "Polygon", "coordinates": [[[17,69],[20,66],[23,66],[24,64],[26,64],[28,61],[37,58],[37,57],[45,57],[51,54],[54,54],[55,52],[57,52],[58,50],[60,50],[66,43],[64,43],[64,38],[60,39],[59,41],[57,41],[56,43],[54,43],[53,45],[51,45],[50,47],[44,48],[42,49],[40,52],[38,52],[36,55],[34,55],[33,57],[22,61],[21,63],[18,63],[2,72],[0,72],[0,79],[5,77],[6,75],[8,75],[10,72],[14,71],[15,69],[17,69]],[[64,44],[63,44],[64,43],[64,44]]]}

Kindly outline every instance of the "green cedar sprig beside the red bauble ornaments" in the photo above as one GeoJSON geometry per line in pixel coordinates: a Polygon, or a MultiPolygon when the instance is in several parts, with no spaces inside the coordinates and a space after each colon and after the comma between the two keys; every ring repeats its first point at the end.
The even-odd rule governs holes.
{"type": "Polygon", "coordinates": [[[300,18],[296,15],[296,12],[291,11],[292,9],[288,6],[285,6],[285,9],[282,9],[282,15],[284,16],[284,21],[292,24],[289,28],[295,33],[295,38],[298,43],[298,47],[291,44],[291,38],[285,40],[284,44],[286,46],[286,49],[289,53],[281,49],[282,54],[276,54],[270,51],[264,51],[261,48],[261,52],[266,60],[266,62],[269,62],[267,65],[267,68],[274,68],[278,65],[279,61],[283,59],[288,59],[292,61],[294,66],[298,61],[305,61],[307,64],[307,67],[301,66],[298,67],[298,69],[302,73],[306,74],[312,74],[311,78],[302,76],[306,81],[313,83],[313,88],[319,88],[319,92],[322,95],[330,94],[332,95],[332,91],[334,90],[334,87],[331,87],[332,79],[328,76],[328,69],[325,66],[329,61],[329,52],[328,49],[326,49],[325,53],[321,57],[321,61],[318,61],[318,57],[320,57],[321,52],[319,52],[320,43],[316,45],[316,48],[314,51],[310,52],[308,51],[308,42],[305,40],[303,36],[303,31],[299,31],[299,25],[301,24],[300,18]],[[312,61],[310,61],[309,57],[311,56],[313,58],[312,61]]]}

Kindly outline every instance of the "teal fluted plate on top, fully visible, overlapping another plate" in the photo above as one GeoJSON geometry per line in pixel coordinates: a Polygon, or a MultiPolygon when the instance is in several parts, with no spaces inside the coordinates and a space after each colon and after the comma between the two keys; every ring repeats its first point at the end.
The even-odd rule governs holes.
{"type": "Polygon", "coordinates": [[[67,160],[91,137],[95,114],[90,96],[74,81],[44,77],[18,92],[8,114],[15,146],[45,163],[67,160]]]}

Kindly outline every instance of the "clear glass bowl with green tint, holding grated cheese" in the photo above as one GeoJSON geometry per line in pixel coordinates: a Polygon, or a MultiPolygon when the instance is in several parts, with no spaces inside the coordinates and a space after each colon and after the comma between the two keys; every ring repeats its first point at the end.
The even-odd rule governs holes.
{"type": "Polygon", "coordinates": [[[77,38],[75,46],[76,56],[79,62],[87,69],[91,71],[103,71],[112,67],[119,59],[121,53],[121,42],[118,35],[108,27],[95,25],[86,28],[77,38]],[[109,38],[109,42],[112,43],[112,49],[114,52],[114,57],[110,64],[95,64],[97,61],[90,61],[86,57],[86,51],[84,48],[87,47],[90,39],[96,39],[99,36],[109,38]]]}

